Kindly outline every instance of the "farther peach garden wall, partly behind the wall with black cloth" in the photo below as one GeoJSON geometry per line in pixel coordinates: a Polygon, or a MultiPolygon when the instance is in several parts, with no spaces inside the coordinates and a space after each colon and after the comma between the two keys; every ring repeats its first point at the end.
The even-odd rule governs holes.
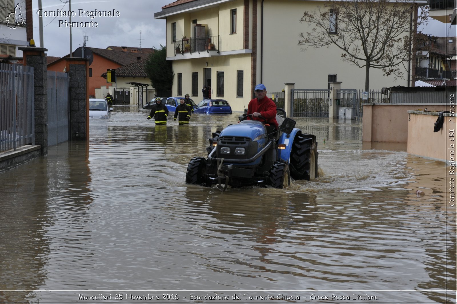
{"type": "MultiPolygon", "coordinates": [[[[449,111],[445,104],[424,103],[364,103],[362,119],[362,141],[409,142],[409,110],[449,111]]],[[[436,121],[436,117],[435,117],[436,121]]],[[[433,123],[426,126],[432,130],[433,123]]]]}

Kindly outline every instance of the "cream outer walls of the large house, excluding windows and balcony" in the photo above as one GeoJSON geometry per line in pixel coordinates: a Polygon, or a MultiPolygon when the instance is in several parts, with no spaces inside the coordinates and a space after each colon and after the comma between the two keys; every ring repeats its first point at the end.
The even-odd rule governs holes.
{"type": "MultiPolygon", "coordinates": [[[[421,1],[424,2],[425,1],[421,1]]],[[[267,91],[280,92],[284,83],[295,83],[298,89],[324,89],[328,75],[336,74],[341,88],[363,89],[365,69],[341,60],[341,50],[335,46],[302,51],[299,34],[312,32],[312,27],[300,23],[304,11],[315,11],[325,1],[314,0],[258,0],[249,1],[249,21],[244,23],[244,0],[220,1],[211,5],[166,16],[167,60],[172,60],[175,79],[172,94],[177,94],[177,74],[182,73],[182,93],[191,94],[191,73],[198,72],[199,90],[193,99],[202,98],[203,69],[212,68],[212,97],[216,97],[216,72],[224,71],[224,95],[234,111],[243,111],[252,96],[251,79],[264,83],[267,91]],[[262,19],[263,7],[263,25],[262,19]],[[237,10],[237,33],[230,34],[231,10],[237,10]],[[253,10],[256,9],[256,24],[253,10]],[[176,39],[193,35],[192,20],[205,25],[207,34],[219,35],[217,51],[176,54],[172,40],[172,23],[176,22],[176,39]],[[248,27],[249,49],[244,49],[244,27],[248,27]],[[253,33],[253,28],[256,28],[253,33]],[[255,35],[257,38],[253,40],[255,35]],[[252,61],[252,56],[255,61],[252,61]],[[248,60],[248,58],[250,60],[248,60]],[[237,62],[239,60],[240,62],[237,62]],[[206,63],[208,64],[206,66],[206,63]],[[253,64],[256,66],[253,67],[253,64]],[[236,96],[236,71],[244,71],[244,97],[236,96]]],[[[161,18],[164,18],[162,16],[161,18]]],[[[406,63],[407,66],[407,63],[406,63]]],[[[414,66],[414,65],[413,65],[414,66]]],[[[405,76],[407,75],[405,71],[405,76]]],[[[370,88],[408,86],[406,79],[385,77],[383,71],[371,69],[370,88]]],[[[201,100],[201,99],[200,99],[201,100]]]]}

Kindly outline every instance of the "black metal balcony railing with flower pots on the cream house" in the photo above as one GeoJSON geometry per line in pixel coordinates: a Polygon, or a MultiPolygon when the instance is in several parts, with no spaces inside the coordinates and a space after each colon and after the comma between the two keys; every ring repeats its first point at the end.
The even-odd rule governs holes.
{"type": "Polygon", "coordinates": [[[176,39],[175,56],[185,53],[219,52],[219,35],[197,36],[176,39]]]}

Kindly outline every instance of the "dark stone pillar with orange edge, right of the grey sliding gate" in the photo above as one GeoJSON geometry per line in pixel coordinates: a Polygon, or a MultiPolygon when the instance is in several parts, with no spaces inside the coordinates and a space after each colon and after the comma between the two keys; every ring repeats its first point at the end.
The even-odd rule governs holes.
{"type": "Polygon", "coordinates": [[[70,136],[69,140],[89,140],[89,60],[65,58],[70,76],[70,136]]]}

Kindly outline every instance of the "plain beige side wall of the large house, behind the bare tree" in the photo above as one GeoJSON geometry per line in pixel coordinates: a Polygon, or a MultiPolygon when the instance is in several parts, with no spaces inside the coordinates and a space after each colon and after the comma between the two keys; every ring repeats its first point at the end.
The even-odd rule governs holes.
{"type": "MultiPolygon", "coordinates": [[[[260,1],[259,1],[260,2],[260,1]]],[[[280,91],[285,82],[295,82],[295,87],[302,89],[327,88],[328,74],[337,74],[337,81],[342,81],[341,88],[364,89],[365,69],[341,60],[342,51],[329,46],[302,51],[299,46],[300,33],[313,32],[312,26],[300,23],[304,11],[317,11],[323,6],[322,1],[265,0],[263,2],[263,75],[260,75],[260,25],[258,27],[257,66],[258,82],[266,85],[270,91],[280,91]]],[[[259,3],[258,18],[260,24],[261,8],[259,3]]],[[[406,74],[405,74],[406,76],[406,74]]],[[[395,80],[393,76],[383,76],[379,69],[370,70],[370,88],[408,86],[407,79],[395,80]]]]}

